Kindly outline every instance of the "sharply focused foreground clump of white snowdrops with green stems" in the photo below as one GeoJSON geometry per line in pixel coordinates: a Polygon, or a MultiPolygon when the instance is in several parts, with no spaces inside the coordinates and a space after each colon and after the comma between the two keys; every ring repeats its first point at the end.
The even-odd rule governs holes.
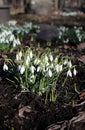
{"type": "MultiPolygon", "coordinates": [[[[45,94],[45,101],[56,101],[56,84],[65,73],[62,86],[67,78],[76,76],[76,68],[69,57],[53,56],[51,51],[36,53],[31,48],[21,49],[16,53],[15,64],[17,74],[14,77],[15,85],[19,85],[22,91],[30,91],[38,95],[45,94]]],[[[4,63],[4,71],[8,70],[4,63]]]]}

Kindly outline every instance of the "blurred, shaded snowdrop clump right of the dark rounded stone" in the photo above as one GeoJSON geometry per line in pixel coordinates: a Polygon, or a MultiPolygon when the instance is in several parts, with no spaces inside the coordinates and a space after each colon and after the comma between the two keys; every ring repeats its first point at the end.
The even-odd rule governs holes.
{"type": "Polygon", "coordinates": [[[85,42],[85,30],[83,27],[59,27],[59,35],[56,36],[56,41],[60,44],[74,45],[85,42]]]}

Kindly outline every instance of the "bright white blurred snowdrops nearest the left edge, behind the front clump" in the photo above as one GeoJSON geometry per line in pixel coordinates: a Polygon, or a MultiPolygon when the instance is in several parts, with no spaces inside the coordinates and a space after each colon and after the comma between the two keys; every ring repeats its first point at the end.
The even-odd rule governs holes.
{"type": "Polygon", "coordinates": [[[16,38],[15,35],[9,29],[0,29],[0,50],[9,51],[12,48],[21,45],[19,38],[16,38]]]}

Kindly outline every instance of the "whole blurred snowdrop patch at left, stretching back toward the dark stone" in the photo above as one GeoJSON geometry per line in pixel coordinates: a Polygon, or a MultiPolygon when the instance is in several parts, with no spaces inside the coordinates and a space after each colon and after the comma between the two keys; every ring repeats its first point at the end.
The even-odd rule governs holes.
{"type": "Polygon", "coordinates": [[[16,21],[9,21],[0,25],[0,50],[9,51],[21,45],[26,37],[39,31],[39,26],[32,23],[25,23],[23,26],[16,24],[16,21]]]}

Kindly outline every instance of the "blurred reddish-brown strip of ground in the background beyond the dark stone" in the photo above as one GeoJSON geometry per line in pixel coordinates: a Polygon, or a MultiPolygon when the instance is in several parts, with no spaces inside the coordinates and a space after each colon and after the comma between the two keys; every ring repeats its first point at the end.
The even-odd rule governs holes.
{"type": "Polygon", "coordinates": [[[17,20],[19,24],[24,22],[32,22],[36,24],[65,25],[65,26],[83,26],[85,27],[85,13],[75,16],[62,16],[59,12],[50,16],[37,14],[16,14],[11,15],[11,19],[17,20]]]}

